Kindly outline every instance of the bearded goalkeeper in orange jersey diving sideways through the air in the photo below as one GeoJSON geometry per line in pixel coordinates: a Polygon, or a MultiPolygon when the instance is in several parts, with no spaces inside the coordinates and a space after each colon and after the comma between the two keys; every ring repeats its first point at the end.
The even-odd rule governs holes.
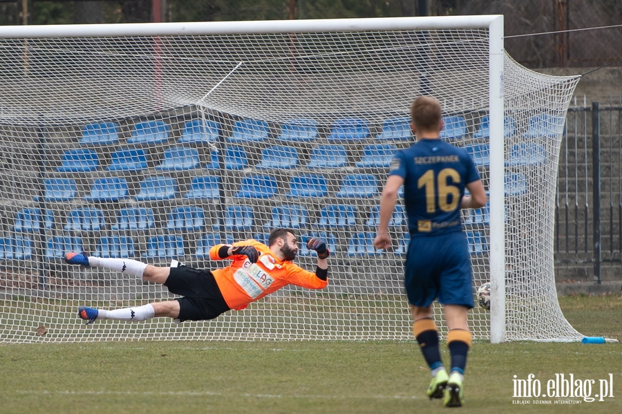
{"type": "Polygon", "coordinates": [[[227,310],[242,310],[249,303],[289,284],[309,289],[326,288],[327,258],[330,255],[326,242],[311,238],[307,247],[317,252],[314,273],[292,263],[298,253],[298,242],[290,229],[274,229],[268,245],[245,240],[211,247],[209,257],[212,260],[232,259],[231,265],[211,271],[193,269],[174,261],[171,267],[158,267],[127,258],[88,256],[86,252],[67,253],[64,260],[70,265],[104,267],[138,276],[145,281],[160,283],[169,292],[181,296],[171,301],[115,310],[80,306],[78,316],[87,321],[87,325],[96,319],[145,321],[154,317],[171,317],[180,322],[202,321],[214,319],[227,310]]]}

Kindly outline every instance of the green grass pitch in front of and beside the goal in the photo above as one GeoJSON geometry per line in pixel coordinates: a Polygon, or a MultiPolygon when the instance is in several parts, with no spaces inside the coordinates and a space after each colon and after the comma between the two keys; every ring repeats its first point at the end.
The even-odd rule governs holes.
{"type": "MultiPolygon", "coordinates": [[[[585,335],[622,339],[620,294],[560,305],[585,335]]],[[[622,344],[478,342],[466,368],[461,413],[622,413],[622,344]],[[529,374],[543,391],[556,374],[593,379],[592,396],[612,379],[614,396],[513,397],[513,376],[529,374]]],[[[446,412],[425,397],[429,378],[414,341],[10,344],[0,345],[0,413],[446,412]]]]}

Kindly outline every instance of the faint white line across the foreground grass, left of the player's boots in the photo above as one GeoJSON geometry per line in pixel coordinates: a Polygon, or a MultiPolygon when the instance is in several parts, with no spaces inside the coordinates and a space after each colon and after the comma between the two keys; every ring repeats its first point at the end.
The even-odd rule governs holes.
{"type": "Polygon", "coordinates": [[[418,399],[418,397],[404,397],[402,395],[278,395],[278,394],[250,394],[250,393],[212,393],[210,391],[167,391],[154,393],[152,391],[15,391],[18,394],[28,395],[159,395],[161,397],[185,396],[185,397],[211,397],[231,396],[252,398],[296,398],[296,399],[418,399]]]}

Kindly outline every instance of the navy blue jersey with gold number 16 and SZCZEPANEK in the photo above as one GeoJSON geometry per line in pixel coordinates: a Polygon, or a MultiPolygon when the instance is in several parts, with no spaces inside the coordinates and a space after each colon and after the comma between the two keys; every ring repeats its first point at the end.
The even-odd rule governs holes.
{"type": "Polygon", "coordinates": [[[460,231],[464,189],[480,179],[471,156],[440,139],[420,140],[397,151],[389,175],[404,178],[404,208],[411,236],[460,231]]]}

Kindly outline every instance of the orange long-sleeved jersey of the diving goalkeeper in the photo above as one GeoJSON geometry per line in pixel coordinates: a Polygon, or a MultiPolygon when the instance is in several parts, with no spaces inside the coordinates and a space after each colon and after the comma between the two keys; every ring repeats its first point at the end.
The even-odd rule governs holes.
{"type": "MultiPolygon", "coordinates": [[[[265,295],[276,292],[283,286],[292,284],[308,289],[322,289],[328,280],[319,279],[313,272],[304,270],[291,261],[281,261],[263,243],[255,240],[238,241],[234,246],[253,246],[260,256],[256,263],[250,263],[247,256],[236,254],[229,256],[231,265],[212,270],[218,288],[229,308],[240,310],[265,295]]],[[[209,250],[211,260],[223,260],[218,250],[224,245],[216,245],[209,250]]]]}

